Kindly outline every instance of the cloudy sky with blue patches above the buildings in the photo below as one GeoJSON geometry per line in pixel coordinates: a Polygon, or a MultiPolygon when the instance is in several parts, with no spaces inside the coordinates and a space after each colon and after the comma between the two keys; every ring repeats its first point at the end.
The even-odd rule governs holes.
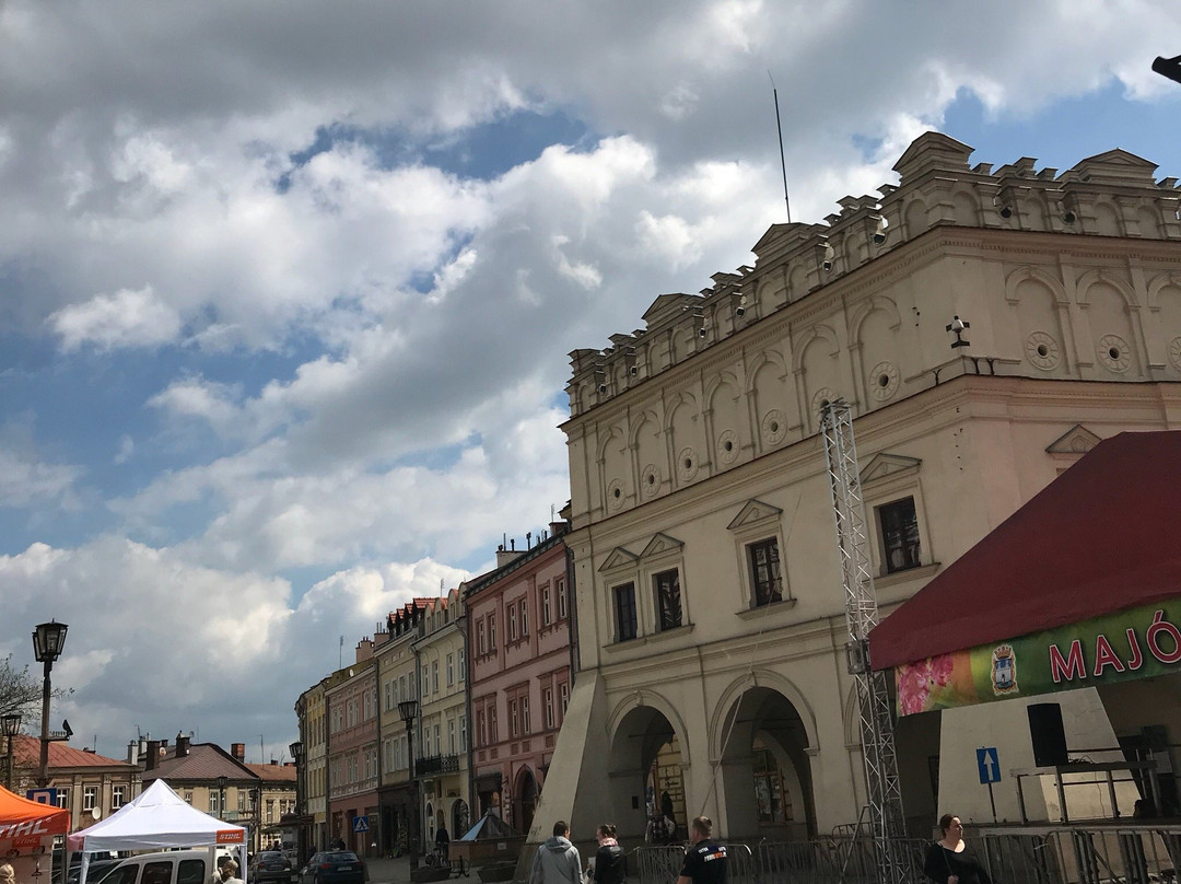
{"type": "Polygon", "coordinates": [[[1181,176],[1159,54],[1166,0],[2,0],[0,655],[70,624],[76,746],[278,756],[565,503],[567,352],[785,220],[771,78],[818,221],[929,128],[1181,176]]]}

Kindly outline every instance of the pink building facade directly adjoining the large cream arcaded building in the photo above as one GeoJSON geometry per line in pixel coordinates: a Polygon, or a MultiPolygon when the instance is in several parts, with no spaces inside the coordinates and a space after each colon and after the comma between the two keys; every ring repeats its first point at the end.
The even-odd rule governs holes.
{"type": "Polygon", "coordinates": [[[466,586],[472,799],[527,834],[570,694],[563,525],[466,586]]]}

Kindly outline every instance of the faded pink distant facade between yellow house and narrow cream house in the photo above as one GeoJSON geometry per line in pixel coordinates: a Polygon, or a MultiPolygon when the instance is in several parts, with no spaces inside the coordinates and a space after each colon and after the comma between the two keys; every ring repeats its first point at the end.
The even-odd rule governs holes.
{"type": "Polygon", "coordinates": [[[328,830],[359,857],[377,853],[378,709],[373,639],[357,645],[357,662],[325,687],[328,719],[328,830]],[[364,819],[360,819],[364,818],[364,819]]]}

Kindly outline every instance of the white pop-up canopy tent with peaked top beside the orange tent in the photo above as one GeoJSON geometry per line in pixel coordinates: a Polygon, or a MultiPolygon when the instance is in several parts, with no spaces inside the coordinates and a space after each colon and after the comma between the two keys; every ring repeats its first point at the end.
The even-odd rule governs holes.
{"type": "Polygon", "coordinates": [[[98,851],[214,845],[237,845],[237,865],[246,880],[246,828],[202,813],[163,780],[156,780],[133,801],[77,836],[81,840],[78,884],[86,884],[90,854],[98,851]]]}

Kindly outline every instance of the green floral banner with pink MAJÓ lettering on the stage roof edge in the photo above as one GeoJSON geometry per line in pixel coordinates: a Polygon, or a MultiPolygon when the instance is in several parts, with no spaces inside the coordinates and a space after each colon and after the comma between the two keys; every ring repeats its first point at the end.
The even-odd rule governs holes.
{"type": "Polygon", "coordinates": [[[905,663],[899,715],[1181,671],[1181,597],[905,663]]]}

